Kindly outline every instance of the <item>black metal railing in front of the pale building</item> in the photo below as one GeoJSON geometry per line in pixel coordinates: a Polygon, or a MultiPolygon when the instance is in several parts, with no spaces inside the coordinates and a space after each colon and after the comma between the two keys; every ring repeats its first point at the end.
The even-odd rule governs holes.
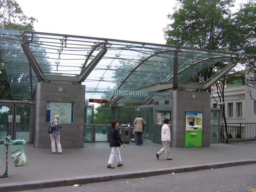
{"type": "Polygon", "coordinates": [[[227,127],[228,135],[225,132],[225,124],[222,124],[223,137],[226,139],[256,137],[256,123],[227,123],[227,127]]]}

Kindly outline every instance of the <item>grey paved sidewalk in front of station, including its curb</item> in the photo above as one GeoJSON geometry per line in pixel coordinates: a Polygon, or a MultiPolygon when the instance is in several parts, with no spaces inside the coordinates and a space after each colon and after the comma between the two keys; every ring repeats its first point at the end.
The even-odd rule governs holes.
{"type": "Polygon", "coordinates": [[[28,166],[14,167],[9,153],[8,177],[0,178],[0,191],[31,190],[256,163],[255,141],[217,143],[211,144],[211,147],[171,147],[169,153],[172,161],[166,161],[164,154],[159,160],[156,159],[155,154],[162,145],[149,140],[144,140],[141,146],[130,142],[126,148],[120,147],[124,165],[117,167],[115,160],[115,169],[107,168],[111,152],[109,143],[84,143],[84,148],[64,148],[63,154],[52,154],[50,148],[33,148],[30,144],[24,146],[28,166]]]}

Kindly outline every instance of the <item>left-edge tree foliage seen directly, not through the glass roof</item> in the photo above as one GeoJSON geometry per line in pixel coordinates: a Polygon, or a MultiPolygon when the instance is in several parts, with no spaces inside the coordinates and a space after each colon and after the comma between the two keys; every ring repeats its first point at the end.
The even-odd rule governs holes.
{"type": "MultiPolygon", "coordinates": [[[[0,28],[33,31],[37,19],[27,17],[15,0],[0,0],[0,28]]],[[[2,51],[1,51],[2,52],[2,51]]],[[[7,73],[0,52],[0,99],[13,99],[7,73]]]]}

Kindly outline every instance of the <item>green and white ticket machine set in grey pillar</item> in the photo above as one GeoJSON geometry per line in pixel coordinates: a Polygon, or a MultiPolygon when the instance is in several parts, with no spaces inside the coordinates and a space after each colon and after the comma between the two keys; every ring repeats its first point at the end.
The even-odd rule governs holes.
{"type": "Polygon", "coordinates": [[[186,112],[185,147],[202,146],[203,113],[186,112]]]}

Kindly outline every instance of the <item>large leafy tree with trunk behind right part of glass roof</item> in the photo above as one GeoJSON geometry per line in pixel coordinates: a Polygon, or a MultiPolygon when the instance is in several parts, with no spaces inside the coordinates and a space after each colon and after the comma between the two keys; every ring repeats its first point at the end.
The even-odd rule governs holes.
{"type": "MultiPolygon", "coordinates": [[[[234,20],[229,10],[234,2],[234,0],[178,0],[174,13],[168,15],[173,23],[168,24],[164,29],[166,43],[200,49],[232,51],[231,42],[236,38],[233,31],[236,31],[239,20],[238,16],[237,20],[234,20]]],[[[240,25],[242,26],[243,23],[240,25]]],[[[240,43],[237,42],[236,45],[240,43]]],[[[217,63],[213,68],[205,69],[196,78],[191,79],[205,82],[225,65],[225,63],[217,63]]],[[[224,75],[215,84],[219,102],[224,102],[226,79],[227,76],[224,75]]],[[[211,88],[208,91],[211,91],[211,88]]],[[[225,109],[222,110],[222,116],[227,133],[225,109]]]]}

